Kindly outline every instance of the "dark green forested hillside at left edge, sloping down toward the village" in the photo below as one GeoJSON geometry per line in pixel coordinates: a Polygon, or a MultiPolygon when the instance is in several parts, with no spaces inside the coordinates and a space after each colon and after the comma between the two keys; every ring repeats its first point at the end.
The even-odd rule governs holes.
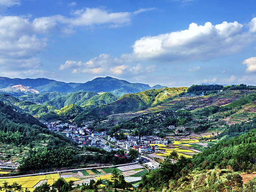
{"type": "Polygon", "coordinates": [[[52,132],[33,116],[20,113],[10,105],[0,101],[0,142],[28,145],[33,141],[58,140],[67,144],[71,141],[58,133],[52,132]]]}

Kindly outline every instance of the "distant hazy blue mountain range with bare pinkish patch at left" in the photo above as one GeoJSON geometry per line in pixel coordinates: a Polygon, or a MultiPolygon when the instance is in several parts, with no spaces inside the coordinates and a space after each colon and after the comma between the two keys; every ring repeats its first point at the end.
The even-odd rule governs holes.
{"type": "Polygon", "coordinates": [[[71,93],[77,91],[111,92],[120,97],[127,93],[136,93],[149,89],[160,89],[166,86],[130,83],[113,77],[97,77],[86,83],[65,83],[46,78],[20,79],[0,77],[0,93],[11,96],[21,96],[30,93],[61,92],[71,93]],[[19,86],[17,86],[19,85],[19,86]]]}

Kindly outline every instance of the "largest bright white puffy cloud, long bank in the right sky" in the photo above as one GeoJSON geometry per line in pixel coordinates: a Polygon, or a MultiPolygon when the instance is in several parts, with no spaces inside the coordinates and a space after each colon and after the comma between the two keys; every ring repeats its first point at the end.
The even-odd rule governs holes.
{"type": "Polygon", "coordinates": [[[243,32],[243,25],[236,21],[218,25],[206,22],[203,26],[191,23],[186,30],[142,37],[132,45],[132,54],[121,57],[127,60],[208,60],[239,52],[254,39],[255,35],[243,32]]]}

